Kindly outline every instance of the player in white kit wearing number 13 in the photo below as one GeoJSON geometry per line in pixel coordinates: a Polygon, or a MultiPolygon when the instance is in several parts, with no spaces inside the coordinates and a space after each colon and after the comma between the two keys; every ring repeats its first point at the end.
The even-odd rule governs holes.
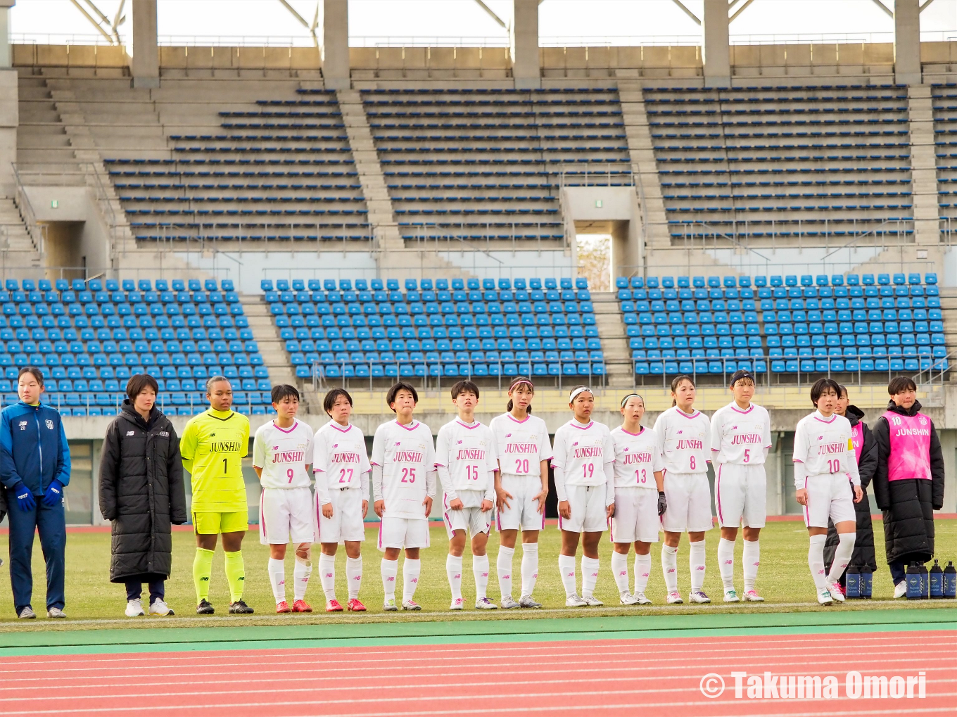
{"type": "Polygon", "coordinates": [[[655,432],[641,425],[645,399],[629,393],[621,399],[622,424],[612,428],[614,442],[614,516],[612,574],[622,605],[649,605],[645,596],[652,570],[664,496],[664,460],[655,432]],[[628,551],[634,543],[634,594],[628,589],[628,551]]]}

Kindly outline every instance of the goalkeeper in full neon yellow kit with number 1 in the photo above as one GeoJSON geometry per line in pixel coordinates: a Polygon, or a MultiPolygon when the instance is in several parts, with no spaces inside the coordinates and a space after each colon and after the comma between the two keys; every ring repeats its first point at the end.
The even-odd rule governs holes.
{"type": "Polygon", "coordinates": [[[242,477],[242,459],[249,450],[249,419],[231,410],[233,387],[225,376],[212,376],[206,382],[206,397],[210,401],[209,411],[190,418],[180,439],[183,465],[192,478],[196,612],[213,613],[209,601],[212,553],[216,536],[222,533],[230,613],[249,615],[253,608],[242,600],[246,571],[241,552],[243,536],[249,529],[246,483],[242,477]]]}

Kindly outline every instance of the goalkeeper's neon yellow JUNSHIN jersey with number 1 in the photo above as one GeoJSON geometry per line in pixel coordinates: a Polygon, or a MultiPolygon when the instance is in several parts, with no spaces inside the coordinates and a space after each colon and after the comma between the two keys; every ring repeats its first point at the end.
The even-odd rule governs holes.
{"type": "Polygon", "coordinates": [[[210,409],[194,415],[180,439],[183,466],[192,479],[192,512],[247,509],[242,459],[249,452],[249,419],[210,409]]]}

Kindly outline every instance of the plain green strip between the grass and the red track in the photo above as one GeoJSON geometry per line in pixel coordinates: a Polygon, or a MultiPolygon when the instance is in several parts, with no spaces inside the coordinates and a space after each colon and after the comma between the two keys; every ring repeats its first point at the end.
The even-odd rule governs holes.
{"type": "Polygon", "coordinates": [[[0,657],[957,630],[953,610],[607,616],[0,634],[0,657]]]}

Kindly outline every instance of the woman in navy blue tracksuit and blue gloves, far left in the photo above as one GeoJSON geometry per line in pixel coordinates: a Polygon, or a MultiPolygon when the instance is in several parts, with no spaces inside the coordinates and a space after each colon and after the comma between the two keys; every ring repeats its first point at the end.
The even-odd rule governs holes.
{"type": "Polygon", "coordinates": [[[10,516],[10,582],[19,617],[35,617],[33,532],[47,563],[47,616],[63,615],[66,516],[63,488],[70,482],[70,448],[55,408],[40,403],[43,372],[20,369],[20,401],[0,412],[0,482],[7,488],[10,516]]]}

